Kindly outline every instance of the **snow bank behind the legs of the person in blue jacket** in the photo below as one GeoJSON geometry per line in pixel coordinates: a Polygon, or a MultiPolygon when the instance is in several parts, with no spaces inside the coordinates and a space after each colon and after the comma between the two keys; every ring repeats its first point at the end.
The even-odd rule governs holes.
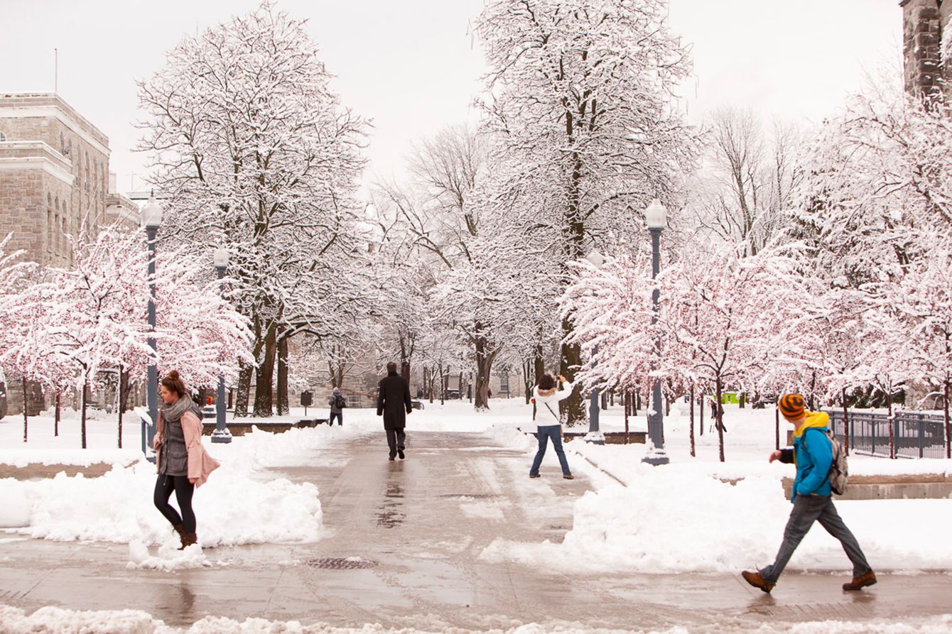
{"type": "MultiPolygon", "coordinates": [[[[736,485],[695,469],[639,466],[628,486],[589,491],[576,501],[563,544],[496,540],[481,557],[568,571],[729,572],[770,563],[791,505],[774,477],[736,485]]],[[[838,502],[874,568],[952,567],[949,500],[838,502]],[[908,539],[916,535],[915,540],[908,539]]],[[[814,525],[789,569],[849,569],[836,540],[814,525]]]]}

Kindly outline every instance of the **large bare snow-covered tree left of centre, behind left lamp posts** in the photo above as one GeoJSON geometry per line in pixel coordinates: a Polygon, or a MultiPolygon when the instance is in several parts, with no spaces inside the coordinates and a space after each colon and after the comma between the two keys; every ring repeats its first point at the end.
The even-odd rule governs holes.
{"type": "Polygon", "coordinates": [[[251,321],[256,364],[242,367],[238,413],[253,371],[254,414],[271,415],[288,337],[345,329],[337,322],[352,306],[319,283],[341,279],[359,242],[353,196],[366,124],[330,80],[306,22],[266,0],[186,36],[138,84],[149,114],[141,149],[168,196],[163,234],[231,252],[232,301],[251,321]]]}

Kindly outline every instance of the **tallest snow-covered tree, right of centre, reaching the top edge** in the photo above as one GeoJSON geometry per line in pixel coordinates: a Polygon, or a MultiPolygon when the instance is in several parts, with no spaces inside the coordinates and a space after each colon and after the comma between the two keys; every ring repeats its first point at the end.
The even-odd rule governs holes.
{"type": "MultiPolygon", "coordinates": [[[[567,263],[602,248],[609,231],[645,242],[640,210],[652,198],[679,207],[670,204],[695,143],[670,105],[690,66],[665,8],[662,0],[492,0],[478,20],[486,130],[506,154],[496,162],[497,191],[523,192],[518,211],[541,226],[532,237],[548,248],[562,287],[567,263]]],[[[573,328],[565,318],[566,338],[573,328]]],[[[565,343],[561,356],[560,371],[574,377],[581,348],[565,343]]],[[[570,423],[585,420],[581,387],[564,409],[570,423]]]]}

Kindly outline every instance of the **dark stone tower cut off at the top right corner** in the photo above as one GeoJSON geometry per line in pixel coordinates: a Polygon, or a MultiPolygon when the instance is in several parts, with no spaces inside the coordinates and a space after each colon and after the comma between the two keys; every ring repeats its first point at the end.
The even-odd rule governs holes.
{"type": "Polygon", "coordinates": [[[906,91],[927,97],[944,93],[952,103],[952,0],[902,0],[900,7],[906,91]]]}

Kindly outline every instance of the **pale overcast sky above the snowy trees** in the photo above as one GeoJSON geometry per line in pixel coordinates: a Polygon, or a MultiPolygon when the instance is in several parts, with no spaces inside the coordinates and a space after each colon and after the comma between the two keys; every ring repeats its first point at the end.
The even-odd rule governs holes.
{"type": "MultiPolygon", "coordinates": [[[[0,0],[0,92],[58,91],[109,136],[119,189],[144,187],[132,152],[134,80],[165,51],[247,12],[257,0],[0,0]],[[131,174],[135,174],[132,176],[131,174]]],[[[344,103],[373,120],[366,181],[399,176],[410,144],[472,119],[485,67],[469,20],[483,0],[278,0],[309,20],[344,103]]],[[[726,105],[765,119],[818,121],[863,86],[865,70],[898,65],[898,0],[670,0],[670,24],[693,45],[689,115],[726,105]]]]}

